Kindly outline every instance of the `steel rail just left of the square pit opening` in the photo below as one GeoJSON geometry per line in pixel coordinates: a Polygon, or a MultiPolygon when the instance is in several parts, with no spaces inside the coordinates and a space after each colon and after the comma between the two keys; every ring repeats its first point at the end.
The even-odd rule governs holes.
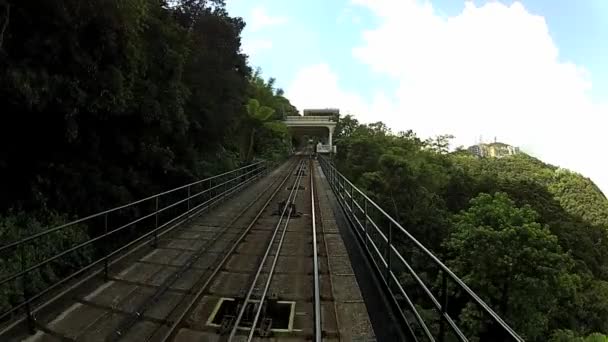
{"type": "MultiPolygon", "coordinates": [[[[297,165],[298,165],[298,163],[296,162],[296,167],[297,167],[297,165]]],[[[173,322],[173,324],[171,325],[171,327],[169,328],[169,330],[167,330],[167,332],[165,333],[165,335],[163,336],[163,338],[160,340],[161,342],[167,342],[167,341],[171,340],[175,336],[175,334],[177,333],[177,329],[183,323],[183,321],[185,320],[185,318],[190,314],[190,312],[192,311],[192,309],[194,309],[194,306],[198,303],[198,301],[200,300],[200,297],[203,295],[203,293],[209,287],[209,284],[211,284],[211,281],[213,279],[215,279],[215,277],[217,276],[217,274],[221,271],[222,267],[226,264],[226,262],[228,261],[228,259],[232,256],[232,254],[234,253],[234,251],[236,250],[236,248],[238,247],[238,245],[241,243],[241,241],[243,241],[243,239],[245,239],[245,236],[247,234],[249,234],[249,232],[251,231],[251,229],[253,228],[253,226],[255,225],[255,223],[258,221],[258,219],[260,218],[260,216],[262,216],[262,213],[264,212],[264,210],[268,207],[268,205],[270,205],[270,203],[272,202],[272,200],[281,191],[281,188],[287,182],[287,180],[289,180],[289,178],[291,177],[291,174],[293,173],[294,169],[295,169],[295,167],[293,169],[289,169],[288,170],[286,177],[281,181],[281,183],[279,184],[279,186],[277,186],[277,188],[270,195],[270,197],[268,198],[268,200],[266,200],[266,202],[264,203],[264,205],[262,206],[262,208],[258,211],[258,213],[253,218],[253,220],[251,220],[250,224],[243,231],[243,233],[239,236],[239,238],[232,244],[232,247],[224,254],[224,257],[219,262],[219,264],[215,267],[215,269],[213,270],[213,272],[211,273],[211,275],[209,275],[209,277],[207,278],[207,280],[205,281],[205,283],[199,288],[199,290],[196,292],[196,294],[194,294],[194,296],[193,296],[192,300],[190,301],[190,303],[182,311],[182,313],[179,315],[179,317],[177,319],[175,319],[175,321],[173,322]]]]}

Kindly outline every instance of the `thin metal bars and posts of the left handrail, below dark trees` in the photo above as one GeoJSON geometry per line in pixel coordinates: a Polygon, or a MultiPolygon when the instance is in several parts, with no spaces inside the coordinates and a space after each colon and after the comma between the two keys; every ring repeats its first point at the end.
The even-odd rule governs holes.
{"type": "Polygon", "coordinates": [[[22,280],[21,283],[23,287],[23,300],[19,303],[15,303],[9,309],[0,312],[0,322],[5,321],[7,317],[13,315],[18,310],[21,310],[25,307],[25,315],[28,320],[28,327],[30,328],[30,330],[32,330],[34,326],[34,319],[32,316],[31,303],[33,301],[40,299],[42,295],[47,294],[51,290],[57,289],[58,286],[67,283],[68,281],[74,279],[79,275],[84,274],[86,271],[91,270],[93,267],[101,264],[102,262],[104,264],[104,275],[107,278],[109,273],[108,267],[109,264],[111,264],[111,258],[125,251],[127,248],[134,246],[136,243],[143,242],[146,238],[153,238],[152,246],[157,247],[159,236],[158,232],[160,230],[164,229],[165,231],[163,231],[162,233],[164,234],[166,233],[167,229],[171,230],[175,228],[187,218],[200,213],[201,211],[212,206],[213,204],[221,201],[232,193],[243,188],[247,184],[250,184],[251,182],[255,181],[266,173],[268,167],[269,165],[267,165],[265,161],[259,161],[238,169],[234,169],[212,177],[201,179],[186,185],[182,185],[167,191],[157,193],[155,195],[137,201],[133,201],[131,203],[127,203],[125,205],[121,205],[56,227],[52,227],[42,232],[24,237],[18,241],[10,242],[6,245],[0,246],[0,253],[4,253],[4,255],[7,255],[7,253],[11,253],[8,255],[8,258],[6,258],[7,260],[21,260],[21,269],[19,271],[14,271],[12,274],[3,275],[3,278],[0,279],[0,287],[6,286],[10,282],[15,281],[17,279],[22,280]],[[197,191],[192,192],[192,189],[195,186],[197,187],[197,191]],[[200,190],[200,186],[205,186],[205,188],[200,190]],[[183,198],[182,195],[180,195],[180,193],[178,192],[180,190],[187,190],[187,193],[183,195],[183,198]],[[178,194],[180,195],[180,197],[178,197],[177,199],[169,198],[171,203],[165,204],[164,206],[160,206],[160,199],[163,198],[163,196],[167,196],[169,194],[178,194]],[[201,199],[201,195],[203,194],[208,195],[201,199]],[[130,217],[128,219],[129,222],[120,224],[118,225],[118,227],[111,228],[108,226],[108,217],[111,214],[118,213],[123,209],[132,208],[145,202],[154,205],[155,209],[149,210],[149,213],[141,213],[140,215],[137,215],[135,217],[130,217]],[[180,208],[180,205],[184,208],[180,208]],[[166,222],[159,222],[159,214],[167,212],[169,209],[174,210],[173,212],[170,212],[170,214],[175,214],[175,216],[167,219],[166,222]],[[23,252],[25,246],[35,246],[37,241],[42,241],[41,239],[45,238],[47,235],[64,229],[70,229],[76,225],[81,225],[79,228],[84,228],[87,224],[89,224],[89,222],[90,224],[94,224],[95,222],[91,222],[91,220],[97,218],[103,218],[104,220],[103,233],[96,235],[92,238],[88,238],[86,241],[76,241],[76,245],[64,248],[63,250],[56,252],[54,255],[43,255],[43,260],[37,262],[35,261],[33,265],[26,264],[24,262],[23,252]],[[136,236],[131,241],[125,241],[122,245],[118,245],[118,247],[114,250],[105,250],[103,251],[103,253],[101,253],[101,255],[94,255],[94,261],[91,261],[86,265],[80,265],[77,270],[71,272],[70,274],[64,275],[63,277],[61,277],[61,279],[58,279],[53,283],[45,284],[46,287],[38,291],[38,293],[28,293],[29,291],[27,290],[27,279],[31,272],[34,272],[44,267],[45,265],[48,265],[62,257],[65,257],[66,255],[75,253],[88,246],[94,246],[95,243],[101,241],[108,241],[107,239],[109,236],[132,228],[136,224],[143,222],[144,220],[152,220],[153,218],[154,223],[150,223],[150,227],[146,227],[146,231],[144,233],[139,234],[140,236],[136,236]]]}

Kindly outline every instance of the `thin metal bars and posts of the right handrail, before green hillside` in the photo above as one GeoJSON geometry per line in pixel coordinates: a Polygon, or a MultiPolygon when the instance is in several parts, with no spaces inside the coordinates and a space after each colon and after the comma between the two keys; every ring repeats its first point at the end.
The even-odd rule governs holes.
{"type": "MultiPolygon", "coordinates": [[[[345,213],[347,214],[347,218],[356,226],[355,231],[358,234],[360,240],[365,244],[365,249],[368,252],[368,255],[371,257],[372,264],[374,264],[380,273],[382,280],[385,285],[391,292],[390,295],[398,304],[398,300],[393,295],[391,290],[391,284],[394,283],[399,289],[400,295],[405,298],[410,307],[410,311],[414,313],[416,321],[422,327],[426,337],[435,341],[435,338],[431,334],[428,329],[426,322],[422,319],[421,315],[419,315],[418,310],[415,305],[411,302],[410,296],[406,293],[403,286],[399,283],[397,275],[393,272],[394,267],[392,264],[394,262],[399,262],[403,266],[405,266],[407,272],[414,278],[415,283],[422,290],[424,295],[429,299],[433,307],[440,312],[440,332],[438,334],[439,340],[443,341],[444,339],[444,323],[448,324],[448,327],[452,330],[454,334],[456,334],[457,338],[460,341],[468,341],[467,337],[458,327],[452,316],[447,311],[448,304],[448,289],[447,289],[447,280],[451,280],[463,293],[465,293],[479,308],[483,310],[489,317],[491,317],[492,321],[494,321],[513,341],[523,341],[521,338],[496,312],[494,312],[473,290],[471,290],[454,272],[452,272],[443,262],[439,260],[430,250],[424,247],[414,236],[412,236],[405,228],[403,228],[394,218],[392,218],[389,214],[387,214],[379,205],[377,205],[374,201],[372,201],[363,191],[357,188],[351,181],[349,181],[342,173],[340,173],[334,165],[331,164],[325,157],[319,156],[319,162],[323,169],[323,172],[326,175],[326,178],[332,187],[334,193],[336,194],[336,198],[344,208],[345,213]],[[357,199],[355,199],[355,195],[360,197],[363,201],[363,206],[359,204],[357,199]],[[355,208],[356,207],[356,208],[355,208]],[[383,232],[378,224],[372,220],[369,216],[370,209],[375,210],[382,218],[387,220],[388,228],[387,233],[383,232]],[[357,217],[357,213],[363,214],[363,223],[357,217]],[[378,247],[377,243],[374,242],[374,239],[370,235],[370,229],[373,229],[373,234],[376,234],[380,237],[383,244],[386,244],[386,248],[384,248],[384,253],[381,252],[383,249],[382,246],[378,247]],[[396,231],[394,231],[396,230],[396,231]],[[407,241],[412,242],[415,247],[418,248],[425,256],[430,258],[432,264],[437,266],[442,274],[442,289],[441,289],[441,300],[433,295],[429,287],[424,283],[424,281],[420,278],[420,276],[416,273],[416,271],[412,268],[412,266],[407,262],[406,258],[404,258],[399,250],[393,244],[395,233],[401,233],[407,241]],[[371,246],[370,246],[371,245],[371,246]],[[371,247],[371,249],[370,249],[371,247]],[[381,268],[375,261],[375,258],[379,257],[381,260],[383,267],[381,268]],[[395,260],[396,259],[396,260],[395,260]]],[[[399,306],[400,308],[400,306],[399,306]]],[[[401,310],[401,308],[400,308],[401,310]]],[[[401,312],[402,317],[406,317],[404,312],[401,312]]],[[[409,323],[408,323],[409,324],[409,323]]],[[[412,331],[410,329],[410,331],[412,331]]],[[[415,337],[414,337],[415,338],[415,337]]]]}

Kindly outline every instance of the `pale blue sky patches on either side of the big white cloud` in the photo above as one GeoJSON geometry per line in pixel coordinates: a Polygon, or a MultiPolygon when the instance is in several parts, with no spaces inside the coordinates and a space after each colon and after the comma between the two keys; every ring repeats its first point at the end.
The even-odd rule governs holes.
{"type": "MultiPolygon", "coordinates": [[[[473,1],[483,5],[489,1],[473,1]]],[[[511,4],[514,1],[501,1],[511,4]]],[[[441,15],[457,15],[464,1],[432,1],[441,15]]],[[[608,98],[608,1],[605,0],[527,0],[523,5],[547,21],[549,32],[560,49],[560,58],[583,65],[590,71],[597,99],[608,98]]],[[[272,17],[285,18],[283,25],[271,25],[243,38],[267,39],[272,47],[250,56],[251,64],[261,67],[268,77],[276,77],[287,87],[300,67],[327,62],[335,68],[346,87],[363,95],[372,87],[387,81],[375,76],[356,60],[349,58],[351,49],[360,41],[361,31],[374,24],[374,17],[348,0],[228,0],[231,15],[251,21],[254,9],[263,9],[272,17]],[[357,18],[352,20],[353,18],[357,18]],[[345,57],[346,56],[346,57],[345,57]]],[[[251,25],[250,25],[251,26],[251,25]]],[[[390,85],[389,85],[390,86],[390,85]]]]}

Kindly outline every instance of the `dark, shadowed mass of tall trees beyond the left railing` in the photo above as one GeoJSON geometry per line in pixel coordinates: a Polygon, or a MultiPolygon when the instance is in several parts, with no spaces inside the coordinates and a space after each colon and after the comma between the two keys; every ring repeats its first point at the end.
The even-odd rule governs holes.
{"type": "MultiPolygon", "coordinates": [[[[285,157],[290,139],[278,119],[297,110],[248,65],[244,26],[223,0],[1,0],[0,245],[254,158],[285,157]]],[[[95,229],[0,255],[0,279],[95,229]]],[[[30,291],[91,253],[41,270],[30,291]]],[[[16,292],[0,288],[0,312],[16,292]]]]}

